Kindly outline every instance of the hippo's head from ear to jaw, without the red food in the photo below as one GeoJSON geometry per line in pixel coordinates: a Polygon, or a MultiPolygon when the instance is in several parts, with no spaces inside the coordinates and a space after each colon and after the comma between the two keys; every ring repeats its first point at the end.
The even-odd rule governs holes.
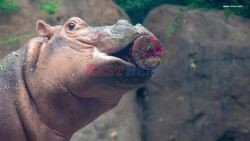
{"type": "Polygon", "coordinates": [[[60,85],[80,98],[117,101],[151,76],[151,70],[136,67],[129,57],[129,45],[151,34],[140,24],[119,20],[111,26],[92,27],[73,17],[63,26],[38,21],[37,31],[43,41],[33,67],[47,87],[60,85]]]}

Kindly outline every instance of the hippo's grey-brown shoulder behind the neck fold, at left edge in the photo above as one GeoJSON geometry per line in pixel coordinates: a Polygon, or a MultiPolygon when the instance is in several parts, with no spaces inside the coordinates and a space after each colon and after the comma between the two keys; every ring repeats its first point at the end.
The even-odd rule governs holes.
{"type": "Polygon", "coordinates": [[[20,56],[24,54],[23,52],[23,50],[13,52],[0,60],[0,125],[4,127],[0,131],[0,136],[7,135],[2,138],[5,140],[16,140],[16,137],[20,141],[26,140],[22,122],[16,109],[18,106],[16,102],[18,83],[22,82],[19,72],[23,61],[20,56]]]}

